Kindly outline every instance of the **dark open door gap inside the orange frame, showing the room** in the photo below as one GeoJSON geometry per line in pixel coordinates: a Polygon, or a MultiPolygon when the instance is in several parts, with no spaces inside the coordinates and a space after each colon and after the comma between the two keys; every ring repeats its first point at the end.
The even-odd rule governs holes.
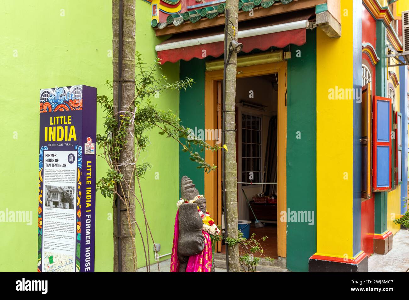
{"type": "MultiPolygon", "coordinates": [[[[276,73],[238,78],[236,162],[238,220],[243,233],[256,234],[263,254],[277,258],[278,77],[276,73]],[[264,183],[264,184],[260,184],[264,183]],[[246,199],[247,198],[247,199],[246,199]],[[255,221],[264,226],[257,228],[255,221]]],[[[247,236],[248,237],[248,236],[247,236]]],[[[225,247],[222,247],[222,252],[225,247]]]]}

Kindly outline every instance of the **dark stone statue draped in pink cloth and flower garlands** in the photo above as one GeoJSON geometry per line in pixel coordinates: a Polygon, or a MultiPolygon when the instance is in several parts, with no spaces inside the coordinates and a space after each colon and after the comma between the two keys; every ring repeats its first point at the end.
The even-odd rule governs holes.
{"type": "Polygon", "coordinates": [[[171,272],[210,272],[211,239],[202,230],[206,198],[199,195],[187,176],[182,177],[180,186],[182,198],[175,220],[171,272]]]}

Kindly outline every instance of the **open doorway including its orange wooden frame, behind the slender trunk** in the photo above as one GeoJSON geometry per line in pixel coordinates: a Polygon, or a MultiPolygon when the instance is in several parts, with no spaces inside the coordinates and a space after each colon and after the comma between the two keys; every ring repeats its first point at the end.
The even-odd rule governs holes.
{"type": "MultiPolygon", "coordinates": [[[[262,247],[264,254],[272,258],[286,256],[286,223],[277,223],[279,211],[286,210],[285,69],[285,62],[237,69],[235,150],[238,219],[252,221],[250,234],[256,233],[257,239],[268,237],[262,247]],[[256,184],[260,182],[276,184],[256,184]],[[251,209],[256,218],[263,221],[264,227],[254,226],[251,209]]],[[[222,70],[206,72],[206,129],[221,129],[222,78],[222,70]]],[[[221,166],[220,153],[206,152],[205,159],[210,164],[221,166]]],[[[217,224],[223,223],[221,183],[221,168],[218,172],[205,174],[205,197],[217,224]]],[[[223,252],[224,245],[219,242],[216,250],[223,252]]]]}

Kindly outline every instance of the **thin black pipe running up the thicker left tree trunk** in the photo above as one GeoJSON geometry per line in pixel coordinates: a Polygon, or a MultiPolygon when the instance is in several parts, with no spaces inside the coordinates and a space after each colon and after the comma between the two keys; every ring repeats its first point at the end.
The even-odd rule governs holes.
{"type": "MultiPolygon", "coordinates": [[[[122,107],[122,31],[123,31],[123,1],[119,0],[119,53],[118,53],[118,130],[121,124],[120,114],[122,107]]],[[[122,272],[122,249],[121,249],[121,199],[117,196],[117,239],[118,239],[118,272],[122,272]]]]}

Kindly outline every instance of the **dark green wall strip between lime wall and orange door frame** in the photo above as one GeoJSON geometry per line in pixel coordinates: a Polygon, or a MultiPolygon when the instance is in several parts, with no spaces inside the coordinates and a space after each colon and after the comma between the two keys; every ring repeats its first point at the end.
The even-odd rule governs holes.
{"type": "MultiPolygon", "coordinates": [[[[180,61],[180,78],[193,78],[196,82],[193,87],[186,91],[180,91],[180,119],[185,127],[191,129],[205,129],[205,60],[193,58],[189,62],[180,61]]],[[[202,152],[203,153],[203,152],[202,152]]],[[[203,156],[203,155],[202,155],[203,156]]],[[[189,154],[180,147],[179,156],[180,176],[186,175],[199,193],[205,192],[205,175],[203,169],[197,169],[198,164],[189,159],[189,154]]]]}

